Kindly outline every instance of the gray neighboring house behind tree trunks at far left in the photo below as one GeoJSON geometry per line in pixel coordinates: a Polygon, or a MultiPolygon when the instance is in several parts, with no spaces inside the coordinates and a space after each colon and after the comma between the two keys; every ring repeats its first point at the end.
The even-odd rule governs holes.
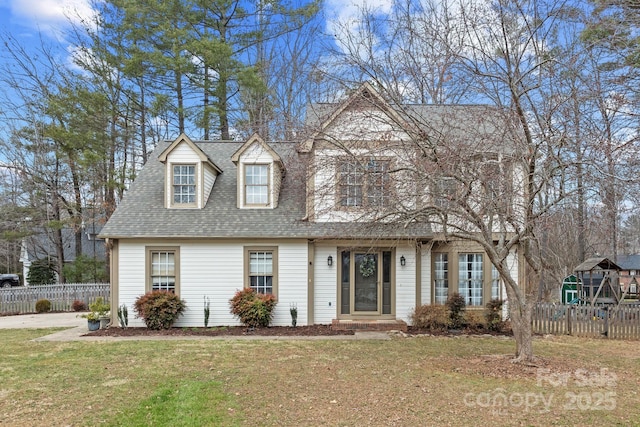
{"type": "MultiPolygon", "coordinates": [[[[87,258],[95,258],[104,262],[106,261],[104,239],[98,237],[101,229],[102,226],[99,225],[84,227],[82,232],[82,254],[87,258]]],[[[65,263],[71,263],[76,259],[76,239],[73,229],[62,229],[62,242],[65,263]]],[[[34,261],[46,259],[55,264],[56,257],[56,248],[49,234],[42,232],[22,239],[20,262],[22,263],[24,285],[29,286],[29,270],[34,261]]]]}

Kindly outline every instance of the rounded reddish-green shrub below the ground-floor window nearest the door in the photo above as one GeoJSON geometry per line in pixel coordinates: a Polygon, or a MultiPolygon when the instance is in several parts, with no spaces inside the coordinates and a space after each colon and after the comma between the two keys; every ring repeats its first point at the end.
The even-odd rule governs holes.
{"type": "Polygon", "coordinates": [[[251,288],[236,292],[229,300],[231,314],[249,328],[269,326],[277,303],[273,295],[259,294],[251,288]]]}

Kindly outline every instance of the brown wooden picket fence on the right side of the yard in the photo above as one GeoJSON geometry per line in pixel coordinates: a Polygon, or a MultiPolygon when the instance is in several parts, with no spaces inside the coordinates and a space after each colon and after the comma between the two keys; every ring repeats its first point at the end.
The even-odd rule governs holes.
{"type": "Polygon", "coordinates": [[[637,340],[640,339],[640,306],[538,303],[533,309],[533,332],[637,340]]]}

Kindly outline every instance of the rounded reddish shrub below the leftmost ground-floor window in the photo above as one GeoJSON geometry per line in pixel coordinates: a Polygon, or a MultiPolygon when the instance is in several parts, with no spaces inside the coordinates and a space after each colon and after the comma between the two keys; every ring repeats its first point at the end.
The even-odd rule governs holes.
{"type": "Polygon", "coordinates": [[[176,294],[152,291],[138,297],[133,308],[149,329],[169,329],[187,308],[176,294]]]}

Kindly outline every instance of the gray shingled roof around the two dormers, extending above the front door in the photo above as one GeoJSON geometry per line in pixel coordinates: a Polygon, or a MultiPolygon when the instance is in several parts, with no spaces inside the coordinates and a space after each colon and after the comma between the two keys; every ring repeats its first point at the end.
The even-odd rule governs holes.
{"type": "MultiPolygon", "coordinates": [[[[425,238],[428,225],[404,228],[394,224],[311,223],[305,217],[304,179],[287,173],[275,209],[238,209],[237,169],[231,162],[241,142],[194,141],[222,170],[203,209],[166,209],[164,165],[160,144],[140,171],[120,205],[102,229],[108,238],[425,238]]],[[[300,164],[293,143],[271,147],[291,170],[300,164]]]]}

